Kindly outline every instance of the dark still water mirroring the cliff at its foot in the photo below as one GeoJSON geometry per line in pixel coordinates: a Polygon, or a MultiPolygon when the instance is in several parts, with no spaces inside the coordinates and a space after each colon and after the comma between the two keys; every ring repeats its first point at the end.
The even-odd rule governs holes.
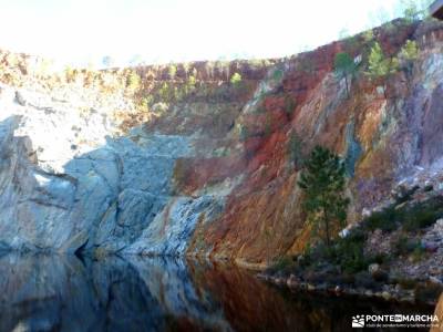
{"type": "Polygon", "coordinates": [[[418,311],[423,309],[296,295],[229,266],[0,258],[0,331],[351,331],[352,314],[418,311]]]}

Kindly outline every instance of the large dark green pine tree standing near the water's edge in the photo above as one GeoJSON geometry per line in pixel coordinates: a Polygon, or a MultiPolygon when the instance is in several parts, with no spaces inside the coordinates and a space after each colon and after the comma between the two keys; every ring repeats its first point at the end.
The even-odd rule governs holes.
{"type": "Polygon", "coordinates": [[[316,146],[305,163],[298,181],[305,191],[308,221],[329,247],[332,231],[347,219],[349,199],[344,195],[344,163],[328,148],[316,146]]]}

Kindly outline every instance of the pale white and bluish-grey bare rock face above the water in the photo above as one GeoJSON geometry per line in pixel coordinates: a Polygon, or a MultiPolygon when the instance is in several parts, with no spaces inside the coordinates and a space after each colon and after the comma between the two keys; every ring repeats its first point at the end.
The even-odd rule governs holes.
{"type": "Polygon", "coordinates": [[[81,110],[1,86],[0,249],[184,252],[218,199],[168,204],[175,159],[195,154],[193,139],[141,128],[117,137],[106,111],[81,110]],[[153,232],[171,205],[171,225],[153,232]]]}

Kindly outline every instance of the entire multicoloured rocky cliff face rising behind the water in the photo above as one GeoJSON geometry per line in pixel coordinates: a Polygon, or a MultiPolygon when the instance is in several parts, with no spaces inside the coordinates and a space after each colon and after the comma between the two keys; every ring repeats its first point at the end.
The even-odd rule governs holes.
{"type": "Polygon", "coordinates": [[[388,55],[414,40],[412,70],[369,80],[367,34],[285,60],[47,76],[3,54],[0,248],[266,264],[309,237],[295,134],[346,157],[358,220],[399,181],[443,170],[442,25],[373,34],[388,55]],[[349,97],[340,51],[362,59],[349,97]]]}

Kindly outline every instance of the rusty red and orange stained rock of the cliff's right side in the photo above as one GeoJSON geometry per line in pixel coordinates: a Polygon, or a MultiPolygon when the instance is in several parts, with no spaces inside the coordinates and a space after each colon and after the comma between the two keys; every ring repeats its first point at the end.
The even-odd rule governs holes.
{"type": "MultiPolygon", "coordinates": [[[[424,34],[427,39],[432,37],[432,42],[421,44],[422,48],[433,48],[443,41],[441,28],[418,30],[416,25],[395,24],[392,31],[388,28],[374,31],[387,54],[396,54],[408,39],[415,38],[422,43],[424,34]]],[[[359,145],[360,154],[354,156],[353,177],[349,180],[352,195],[349,221],[359,218],[363,207],[373,207],[385,199],[392,185],[412,172],[416,160],[430,164],[441,155],[441,147],[435,143],[442,135],[439,92],[427,95],[421,89],[420,82],[425,79],[421,72],[423,61],[418,61],[414,72],[415,90],[405,86],[402,73],[388,82],[377,82],[362,70],[352,79],[348,98],[340,92],[332,66],[337,52],[347,51],[357,56],[368,51],[362,35],[356,42],[353,45],[334,42],[288,60],[281,85],[259,100],[257,112],[247,114],[243,113],[243,105],[265,73],[240,66],[251,85],[247,91],[217,101],[217,105],[229,102],[237,108],[228,111],[216,136],[210,134],[216,128],[212,121],[231,110],[230,106],[219,107],[225,110],[222,113],[193,108],[196,114],[166,116],[161,120],[161,126],[155,126],[171,132],[179,128],[188,134],[199,131],[202,142],[209,142],[205,135],[218,137],[219,141],[208,144],[229,149],[224,157],[179,159],[174,174],[178,193],[198,195],[202,188],[241,177],[226,197],[222,216],[210,224],[198,224],[189,253],[264,267],[278,256],[303,250],[310,230],[301,210],[297,173],[288,160],[292,132],[305,141],[308,151],[320,144],[344,157],[351,141],[359,145]],[[381,83],[387,84],[388,100],[377,92],[381,83]],[[403,102],[399,103],[400,100],[403,102]],[[236,129],[239,124],[247,129],[244,137],[236,129]],[[420,137],[426,137],[425,142],[420,137]]],[[[209,79],[200,64],[198,68],[202,77],[209,79]]],[[[214,72],[214,75],[220,79],[224,73],[214,72]]],[[[204,143],[199,144],[203,148],[204,143]]]]}

